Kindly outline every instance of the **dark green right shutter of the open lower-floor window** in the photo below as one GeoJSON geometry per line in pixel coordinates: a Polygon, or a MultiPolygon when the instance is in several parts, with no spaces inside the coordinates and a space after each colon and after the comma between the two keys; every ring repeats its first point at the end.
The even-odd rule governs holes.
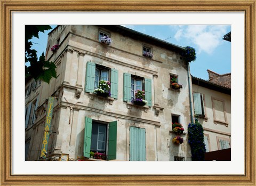
{"type": "Polygon", "coordinates": [[[108,130],[108,160],[116,159],[117,121],[109,123],[108,130]]]}

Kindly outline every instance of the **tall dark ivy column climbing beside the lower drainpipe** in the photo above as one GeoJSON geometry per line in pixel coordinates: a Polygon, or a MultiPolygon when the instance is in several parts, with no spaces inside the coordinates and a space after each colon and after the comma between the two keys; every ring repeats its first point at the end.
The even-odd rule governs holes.
{"type": "Polygon", "coordinates": [[[204,161],[206,151],[204,144],[204,130],[202,125],[195,118],[196,122],[188,125],[188,143],[191,147],[192,160],[204,161]]]}

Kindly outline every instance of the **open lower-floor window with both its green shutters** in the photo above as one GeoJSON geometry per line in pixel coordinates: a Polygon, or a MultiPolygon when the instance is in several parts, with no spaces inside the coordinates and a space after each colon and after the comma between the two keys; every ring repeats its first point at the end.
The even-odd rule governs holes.
{"type": "Polygon", "coordinates": [[[90,152],[106,153],[107,160],[116,159],[117,121],[108,124],[85,117],[84,157],[90,152]]]}

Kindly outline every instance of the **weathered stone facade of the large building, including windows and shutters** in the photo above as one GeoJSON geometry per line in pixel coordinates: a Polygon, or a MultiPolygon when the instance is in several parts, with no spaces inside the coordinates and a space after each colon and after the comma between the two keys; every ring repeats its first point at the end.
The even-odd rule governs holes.
{"type": "Polygon", "coordinates": [[[122,26],[57,26],[46,48],[57,78],[38,86],[35,119],[26,126],[26,160],[98,160],[91,151],[118,161],[191,160],[187,126],[192,95],[182,49],[122,26]],[[103,36],[111,38],[110,45],[101,42],[103,36]],[[52,52],[55,44],[59,48],[52,52]],[[170,77],[182,84],[180,90],[171,88],[170,77]],[[111,83],[107,98],[93,93],[101,79],[111,83]],[[146,106],[132,103],[136,90],[145,90],[146,106]],[[54,107],[46,145],[50,96],[54,107]],[[182,144],[172,142],[177,135],[173,122],[185,128],[182,144]],[[43,145],[47,153],[42,156],[43,145]]]}

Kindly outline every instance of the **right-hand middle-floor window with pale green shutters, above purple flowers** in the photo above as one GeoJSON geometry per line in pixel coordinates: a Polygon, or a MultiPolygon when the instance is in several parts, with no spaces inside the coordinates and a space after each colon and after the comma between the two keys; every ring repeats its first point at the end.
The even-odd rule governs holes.
{"type": "Polygon", "coordinates": [[[148,101],[148,106],[152,106],[151,98],[151,79],[133,76],[129,73],[124,73],[123,101],[131,102],[134,98],[136,90],[145,88],[145,100],[148,101]]]}

